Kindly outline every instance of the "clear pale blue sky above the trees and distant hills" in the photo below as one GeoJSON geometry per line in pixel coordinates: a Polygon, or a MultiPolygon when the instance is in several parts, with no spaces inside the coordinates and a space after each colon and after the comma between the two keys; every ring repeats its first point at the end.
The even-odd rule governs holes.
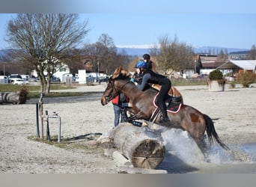
{"type": "Polygon", "coordinates": [[[148,47],[159,43],[163,36],[171,40],[176,36],[193,47],[251,49],[256,43],[255,1],[76,1],[62,1],[62,7],[55,10],[49,6],[38,9],[40,4],[33,5],[34,1],[34,9],[29,10],[22,4],[9,10],[0,7],[0,49],[9,47],[4,41],[7,22],[15,13],[27,12],[79,13],[79,21],[88,20],[90,28],[85,43],[97,42],[101,34],[108,34],[119,47],[148,47]]]}

